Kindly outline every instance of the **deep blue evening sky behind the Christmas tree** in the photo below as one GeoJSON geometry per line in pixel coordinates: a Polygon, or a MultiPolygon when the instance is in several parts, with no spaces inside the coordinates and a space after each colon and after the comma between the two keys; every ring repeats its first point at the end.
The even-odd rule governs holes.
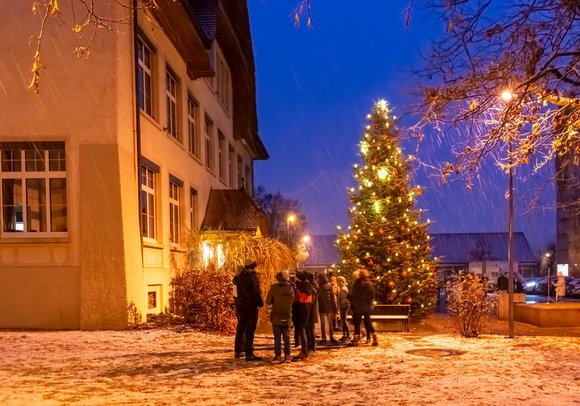
{"type": "MultiPolygon", "coordinates": [[[[255,186],[298,199],[311,234],[334,234],[337,225],[350,224],[346,190],[356,184],[352,164],[359,162],[365,116],[381,98],[400,114],[416,103],[418,80],[409,72],[444,27],[416,10],[406,30],[406,0],[313,0],[308,30],[305,18],[297,28],[289,17],[298,1],[248,0],[258,125],[270,154],[256,161],[255,186]]],[[[427,137],[418,155],[435,164],[449,159],[450,145],[427,137]]],[[[544,178],[516,179],[515,231],[525,232],[535,253],[555,242],[555,211],[525,209],[525,192],[544,178]]],[[[442,185],[424,171],[415,182],[425,190],[418,204],[430,232],[507,232],[507,176],[492,165],[471,191],[461,182],[442,185]]],[[[548,190],[541,202],[553,206],[553,195],[548,190]]]]}

